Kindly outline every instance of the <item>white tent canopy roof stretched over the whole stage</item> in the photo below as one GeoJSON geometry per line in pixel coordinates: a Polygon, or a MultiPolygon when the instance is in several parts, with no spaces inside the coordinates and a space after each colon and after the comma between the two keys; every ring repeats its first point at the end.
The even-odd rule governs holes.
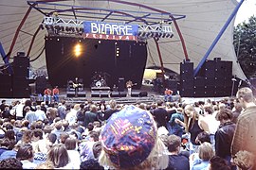
{"type": "MultiPolygon", "coordinates": [[[[194,63],[194,68],[205,56],[206,52],[210,48],[210,44],[216,38],[222,26],[225,25],[233,9],[238,4],[235,0],[126,0],[126,2],[145,5],[174,14],[186,15],[186,18],[177,20],[177,24],[185,41],[188,57],[194,63]]],[[[102,0],[70,0],[58,1],[55,3],[91,8],[125,8],[126,10],[133,11],[149,11],[148,9],[138,6],[130,6],[102,0]]],[[[20,25],[29,6],[25,0],[2,0],[0,3],[0,8],[0,42],[2,43],[5,52],[8,53],[9,47],[15,35],[15,31],[20,25]]],[[[43,19],[44,15],[32,8],[25,24],[22,26],[21,31],[19,32],[10,57],[13,57],[17,52],[20,51],[27,53],[32,36],[40,23],[42,23],[43,19]]],[[[244,75],[240,65],[237,62],[232,43],[233,24],[234,19],[224,32],[219,42],[217,42],[211,51],[208,59],[221,58],[222,60],[232,61],[233,75],[245,80],[247,77],[244,75]]],[[[173,26],[174,37],[172,39],[160,39],[158,43],[164,67],[179,74],[179,65],[180,62],[185,59],[185,56],[177,30],[175,29],[174,24],[171,26],[173,26]]],[[[46,29],[39,31],[29,55],[30,59],[35,59],[33,62],[31,62],[31,66],[34,69],[41,68],[46,65],[45,52],[40,55],[45,47],[45,35],[46,29]],[[36,59],[38,56],[40,57],[36,59]]],[[[146,67],[160,67],[160,60],[153,39],[148,40],[147,48],[148,60],[146,67]]],[[[0,60],[3,63],[2,59],[0,60]]]]}

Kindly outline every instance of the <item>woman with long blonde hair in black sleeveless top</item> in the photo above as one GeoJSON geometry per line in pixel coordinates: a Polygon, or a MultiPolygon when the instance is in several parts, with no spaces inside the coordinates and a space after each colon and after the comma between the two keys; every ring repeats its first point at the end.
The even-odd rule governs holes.
{"type": "Polygon", "coordinates": [[[204,120],[203,115],[194,110],[192,105],[186,105],[184,108],[184,122],[180,121],[179,119],[175,119],[175,122],[185,127],[187,133],[190,132],[190,153],[192,154],[194,151],[196,151],[199,145],[195,142],[197,135],[202,131],[209,133],[208,124],[204,120]]]}

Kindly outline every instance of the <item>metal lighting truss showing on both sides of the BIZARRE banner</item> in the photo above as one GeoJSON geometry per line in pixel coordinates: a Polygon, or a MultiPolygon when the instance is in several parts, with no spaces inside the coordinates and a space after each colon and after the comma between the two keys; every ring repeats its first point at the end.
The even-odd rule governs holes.
{"type": "MultiPolygon", "coordinates": [[[[151,38],[156,40],[162,38],[173,38],[174,32],[169,24],[160,23],[158,25],[138,25],[137,39],[138,41],[146,41],[151,38]]],[[[41,28],[48,31],[49,35],[60,36],[77,36],[81,37],[83,33],[83,21],[73,19],[63,19],[58,16],[45,17],[41,28]]]]}

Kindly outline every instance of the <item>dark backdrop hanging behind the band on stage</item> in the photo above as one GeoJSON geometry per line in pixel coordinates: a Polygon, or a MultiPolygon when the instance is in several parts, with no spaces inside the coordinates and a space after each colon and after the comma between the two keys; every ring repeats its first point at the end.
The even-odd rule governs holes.
{"type": "Polygon", "coordinates": [[[135,89],[139,89],[146,60],[146,42],[46,37],[46,67],[52,86],[65,87],[69,79],[79,77],[85,87],[90,87],[95,72],[101,72],[108,75],[110,87],[118,85],[119,77],[124,77],[125,82],[131,79],[137,83],[135,89]],[[74,54],[77,43],[82,46],[80,57],[74,54]]]}

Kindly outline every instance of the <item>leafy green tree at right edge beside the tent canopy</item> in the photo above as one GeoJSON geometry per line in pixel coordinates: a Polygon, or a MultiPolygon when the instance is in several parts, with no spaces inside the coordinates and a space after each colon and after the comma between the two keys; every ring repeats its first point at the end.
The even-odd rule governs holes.
{"type": "Polygon", "coordinates": [[[256,76],[256,17],[234,27],[234,48],[237,60],[247,78],[256,76]]]}

